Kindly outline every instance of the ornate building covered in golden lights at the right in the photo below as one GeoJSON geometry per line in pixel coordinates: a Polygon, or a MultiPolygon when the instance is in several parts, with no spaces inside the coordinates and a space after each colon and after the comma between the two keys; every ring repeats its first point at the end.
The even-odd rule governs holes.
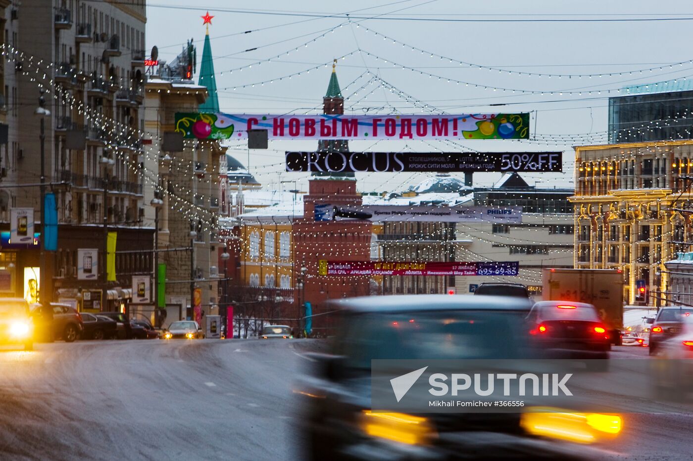
{"type": "Polygon", "coordinates": [[[664,262],[693,242],[692,175],[693,141],[575,147],[575,267],[622,269],[630,303],[637,280],[667,291],[664,262]]]}

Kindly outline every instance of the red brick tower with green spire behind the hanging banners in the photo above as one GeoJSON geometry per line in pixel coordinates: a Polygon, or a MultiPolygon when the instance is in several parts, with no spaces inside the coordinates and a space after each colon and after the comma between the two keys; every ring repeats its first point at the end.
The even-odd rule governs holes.
{"type": "MultiPolygon", "coordinates": [[[[336,60],[335,60],[336,63],[336,60]]],[[[344,114],[344,98],[337,82],[335,64],[323,98],[324,114],[344,114]]],[[[318,152],[349,152],[347,140],[320,140],[318,152]]],[[[308,301],[313,314],[328,311],[326,301],[331,299],[365,296],[369,293],[369,279],[318,275],[319,260],[368,261],[372,228],[369,221],[315,222],[315,205],[360,206],[361,195],[356,192],[353,172],[314,172],[304,196],[304,216],[293,226],[295,279],[303,274],[304,292],[297,293],[297,315],[303,314],[299,302],[308,301]]],[[[314,332],[329,332],[335,325],[335,316],[326,314],[313,318],[314,332]]]]}

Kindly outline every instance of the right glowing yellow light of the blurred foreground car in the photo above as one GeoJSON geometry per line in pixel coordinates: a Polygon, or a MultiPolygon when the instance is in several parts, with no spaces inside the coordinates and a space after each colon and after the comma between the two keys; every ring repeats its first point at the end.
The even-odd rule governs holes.
{"type": "Polygon", "coordinates": [[[536,410],[536,413],[532,413],[532,410],[523,413],[520,419],[520,426],[532,435],[590,444],[597,442],[599,436],[615,435],[622,428],[619,415],[569,413],[558,409],[552,412],[551,408],[536,410]]]}

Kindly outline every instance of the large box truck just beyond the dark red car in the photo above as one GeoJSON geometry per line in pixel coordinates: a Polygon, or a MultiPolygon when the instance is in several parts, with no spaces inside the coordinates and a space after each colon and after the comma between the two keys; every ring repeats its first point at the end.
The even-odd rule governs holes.
{"type": "Polygon", "coordinates": [[[623,273],[617,269],[543,269],[545,301],[587,302],[597,308],[611,343],[621,344],[623,329],[623,273]]]}

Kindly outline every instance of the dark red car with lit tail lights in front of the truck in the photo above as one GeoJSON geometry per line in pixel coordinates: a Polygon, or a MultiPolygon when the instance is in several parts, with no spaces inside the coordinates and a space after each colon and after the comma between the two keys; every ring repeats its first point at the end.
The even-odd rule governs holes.
{"type": "MultiPolygon", "coordinates": [[[[610,341],[597,309],[584,302],[540,301],[527,316],[532,342],[553,359],[608,359],[610,341]]],[[[605,368],[608,362],[587,362],[605,368]]]]}

